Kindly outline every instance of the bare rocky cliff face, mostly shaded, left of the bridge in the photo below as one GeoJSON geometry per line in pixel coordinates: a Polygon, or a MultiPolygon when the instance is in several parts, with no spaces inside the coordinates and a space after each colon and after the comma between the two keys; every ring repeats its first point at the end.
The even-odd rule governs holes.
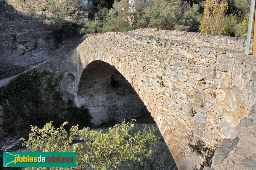
{"type": "Polygon", "coordinates": [[[0,79],[23,72],[76,47],[79,36],[61,41],[51,30],[46,0],[0,1],[0,79]]]}

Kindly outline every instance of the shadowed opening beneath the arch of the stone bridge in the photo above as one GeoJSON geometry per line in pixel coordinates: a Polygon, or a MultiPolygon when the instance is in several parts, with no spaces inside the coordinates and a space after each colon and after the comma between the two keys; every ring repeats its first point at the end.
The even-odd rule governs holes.
{"type": "Polygon", "coordinates": [[[122,122],[147,115],[153,119],[132,85],[112,65],[96,60],[89,63],[78,84],[76,106],[88,108],[93,124],[122,122]]]}

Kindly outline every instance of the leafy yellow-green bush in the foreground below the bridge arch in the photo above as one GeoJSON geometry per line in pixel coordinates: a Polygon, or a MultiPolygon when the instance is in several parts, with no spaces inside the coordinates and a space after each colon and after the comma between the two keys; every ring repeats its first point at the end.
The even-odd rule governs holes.
{"type": "MultiPolygon", "coordinates": [[[[42,129],[31,126],[32,132],[29,133],[28,141],[24,138],[21,140],[24,141],[22,145],[26,144],[32,152],[37,151],[38,148],[43,152],[76,152],[76,167],[72,169],[113,169],[121,162],[140,161],[142,156],[148,157],[152,153],[152,149],[148,149],[147,145],[152,142],[155,144],[156,135],[152,131],[130,135],[133,122],[134,120],[131,123],[116,124],[105,134],[89,128],[78,130],[76,125],[72,126],[69,135],[64,129],[64,125],[68,122],[64,122],[58,129],[49,122],[42,129]],[[75,135],[80,136],[83,143],[72,144],[75,135]]],[[[64,169],[62,167],[50,169],[53,168],[64,169]]],[[[30,169],[43,169],[43,167],[30,169]]]]}

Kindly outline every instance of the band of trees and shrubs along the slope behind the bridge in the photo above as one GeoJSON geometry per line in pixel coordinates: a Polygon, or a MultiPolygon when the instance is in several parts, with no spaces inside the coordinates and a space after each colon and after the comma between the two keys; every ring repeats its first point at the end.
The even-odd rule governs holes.
{"type": "Polygon", "coordinates": [[[155,27],[244,38],[250,9],[249,0],[148,0],[148,5],[97,0],[92,4],[85,20],[81,1],[48,1],[53,28],[87,34],[155,27]]]}

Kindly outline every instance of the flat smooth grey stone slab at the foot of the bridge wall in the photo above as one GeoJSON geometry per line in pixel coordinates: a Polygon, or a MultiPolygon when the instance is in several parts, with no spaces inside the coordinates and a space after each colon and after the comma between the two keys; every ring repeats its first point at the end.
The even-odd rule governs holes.
{"type": "Polygon", "coordinates": [[[232,151],[239,142],[239,138],[237,137],[234,140],[224,139],[220,146],[214,152],[214,156],[212,158],[212,164],[221,165],[223,160],[228,157],[229,152],[232,151]]]}

